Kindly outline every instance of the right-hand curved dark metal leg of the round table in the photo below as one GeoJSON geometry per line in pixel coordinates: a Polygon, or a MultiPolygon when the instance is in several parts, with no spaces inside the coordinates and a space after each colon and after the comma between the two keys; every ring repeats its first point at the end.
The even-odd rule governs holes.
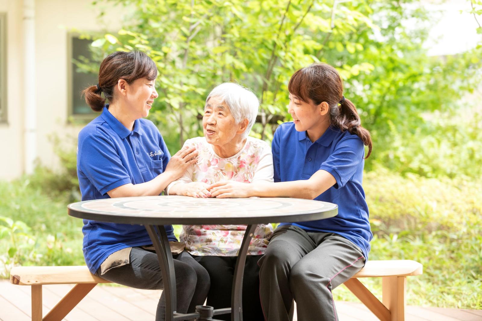
{"type": "Polygon", "coordinates": [[[257,224],[248,225],[244,238],[241,242],[241,248],[236,260],[236,267],[234,268],[233,293],[231,295],[231,321],[242,321],[242,279],[244,275],[244,264],[246,262],[246,255],[248,254],[248,247],[253,238],[254,230],[257,224]]]}

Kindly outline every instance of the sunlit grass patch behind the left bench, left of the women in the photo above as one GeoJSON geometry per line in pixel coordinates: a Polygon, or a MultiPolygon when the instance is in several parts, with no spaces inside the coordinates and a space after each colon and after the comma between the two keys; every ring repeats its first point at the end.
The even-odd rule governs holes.
{"type": "Polygon", "coordinates": [[[69,181],[63,176],[38,168],[19,180],[0,181],[0,277],[15,265],[84,264],[82,221],[67,215],[70,190],[55,189],[55,178],[69,181]],[[52,181],[42,186],[44,179],[52,181]]]}

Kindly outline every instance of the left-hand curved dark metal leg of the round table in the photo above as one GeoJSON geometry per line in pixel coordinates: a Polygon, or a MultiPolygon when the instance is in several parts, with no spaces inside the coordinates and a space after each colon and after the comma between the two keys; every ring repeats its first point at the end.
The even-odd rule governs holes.
{"type": "Polygon", "coordinates": [[[162,283],[166,298],[166,321],[174,321],[176,310],[176,277],[174,272],[173,254],[164,226],[146,225],[147,233],[152,241],[162,272],[162,283]]]}

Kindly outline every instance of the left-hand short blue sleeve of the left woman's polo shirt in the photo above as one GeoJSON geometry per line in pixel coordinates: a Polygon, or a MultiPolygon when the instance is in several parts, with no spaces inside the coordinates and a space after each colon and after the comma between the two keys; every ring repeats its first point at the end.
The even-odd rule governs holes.
{"type": "Polygon", "coordinates": [[[80,170],[102,195],[113,188],[132,183],[110,138],[92,134],[79,147],[80,170]]]}

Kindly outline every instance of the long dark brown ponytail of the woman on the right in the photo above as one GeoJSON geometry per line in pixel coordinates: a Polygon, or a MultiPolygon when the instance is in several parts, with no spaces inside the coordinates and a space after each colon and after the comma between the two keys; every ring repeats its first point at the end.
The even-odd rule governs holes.
{"type": "Polygon", "coordinates": [[[357,108],[350,100],[343,96],[339,104],[340,107],[330,108],[331,124],[335,127],[338,127],[342,131],[348,130],[348,132],[351,134],[355,134],[360,137],[363,145],[368,146],[368,154],[365,157],[365,159],[367,159],[372,153],[373,146],[370,132],[362,127],[357,108]]]}

